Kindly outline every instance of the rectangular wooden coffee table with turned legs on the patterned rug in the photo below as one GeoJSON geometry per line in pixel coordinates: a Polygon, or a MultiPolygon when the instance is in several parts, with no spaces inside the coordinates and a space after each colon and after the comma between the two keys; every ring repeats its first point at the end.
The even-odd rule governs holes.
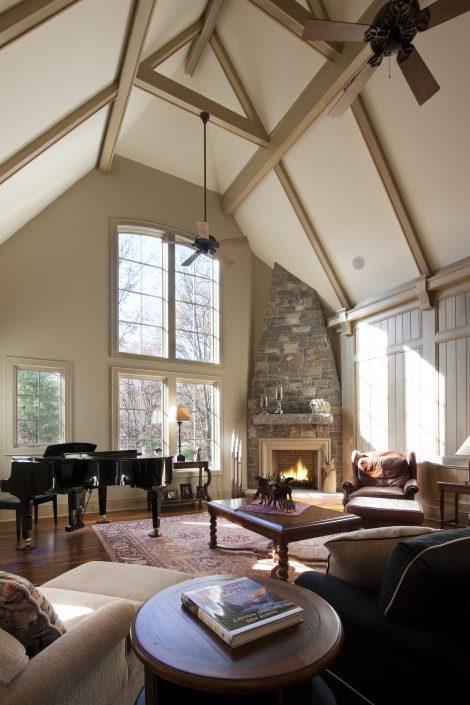
{"type": "Polygon", "coordinates": [[[355,514],[344,514],[323,507],[311,506],[295,516],[288,512],[283,514],[263,514],[261,512],[244,511],[243,507],[252,502],[251,499],[216,499],[208,503],[210,514],[210,548],[225,548],[217,544],[217,517],[228,519],[234,524],[266,536],[273,542],[278,565],[271,575],[280,580],[288,579],[289,558],[288,544],[293,541],[338,534],[343,531],[358,529],[361,518],[355,514]]]}

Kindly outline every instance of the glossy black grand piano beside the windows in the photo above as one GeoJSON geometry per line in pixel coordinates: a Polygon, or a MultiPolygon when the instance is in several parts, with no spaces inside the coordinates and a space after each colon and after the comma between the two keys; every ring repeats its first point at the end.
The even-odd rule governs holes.
{"type": "Polygon", "coordinates": [[[153,532],[160,536],[160,508],[164,484],[173,474],[173,457],[142,457],[137,450],[96,451],[94,443],[58,443],[46,448],[42,457],[12,460],[11,475],[0,481],[0,490],[21,503],[22,538],[32,548],[33,499],[57,492],[68,495],[69,522],[66,531],[84,526],[83,517],[93,489],[98,490],[100,521],[106,519],[110,485],[140,487],[151,492],[153,532]]]}

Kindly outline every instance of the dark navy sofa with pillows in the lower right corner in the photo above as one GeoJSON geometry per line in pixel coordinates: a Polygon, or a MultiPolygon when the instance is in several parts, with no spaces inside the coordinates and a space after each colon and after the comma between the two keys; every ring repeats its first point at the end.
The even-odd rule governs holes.
{"type": "Polygon", "coordinates": [[[327,678],[338,702],[459,702],[470,673],[470,529],[362,529],[326,546],[327,573],[296,583],[341,618],[344,645],[327,678]]]}

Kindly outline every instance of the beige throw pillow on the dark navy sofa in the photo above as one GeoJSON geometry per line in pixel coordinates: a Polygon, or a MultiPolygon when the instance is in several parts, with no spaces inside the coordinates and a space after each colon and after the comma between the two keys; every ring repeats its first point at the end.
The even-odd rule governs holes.
{"type": "Polygon", "coordinates": [[[405,538],[437,531],[426,526],[381,526],[338,534],[326,541],[327,573],[379,592],[390,551],[405,538]]]}

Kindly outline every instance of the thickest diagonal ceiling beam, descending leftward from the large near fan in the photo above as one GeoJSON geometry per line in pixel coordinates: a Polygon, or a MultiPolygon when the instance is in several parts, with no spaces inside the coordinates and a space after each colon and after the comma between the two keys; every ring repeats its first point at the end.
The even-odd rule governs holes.
{"type": "MultiPolygon", "coordinates": [[[[383,0],[373,0],[361,22],[371,22],[383,0]]],[[[269,138],[269,146],[258,150],[224,194],[225,213],[233,213],[266,174],[282,159],[303,132],[355,76],[370,54],[368,44],[350,42],[335,63],[326,63],[293,103],[269,138]]]]}

